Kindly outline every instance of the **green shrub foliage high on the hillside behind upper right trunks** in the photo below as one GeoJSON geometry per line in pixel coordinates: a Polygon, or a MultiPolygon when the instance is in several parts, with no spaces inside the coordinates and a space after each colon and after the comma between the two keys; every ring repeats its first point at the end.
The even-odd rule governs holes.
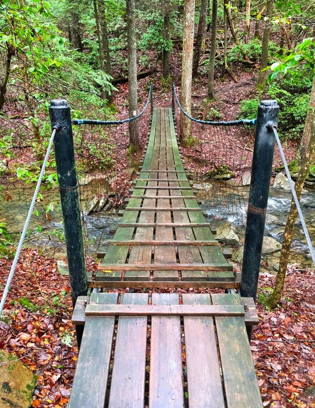
{"type": "MultiPolygon", "coordinates": [[[[274,55],[277,54],[278,51],[278,45],[270,41],[268,50],[269,59],[273,59],[274,55]]],[[[257,38],[252,38],[247,44],[242,43],[241,47],[239,45],[235,45],[228,53],[227,61],[233,63],[242,60],[244,52],[246,52],[250,60],[258,61],[261,56],[261,41],[257,38]]]]}

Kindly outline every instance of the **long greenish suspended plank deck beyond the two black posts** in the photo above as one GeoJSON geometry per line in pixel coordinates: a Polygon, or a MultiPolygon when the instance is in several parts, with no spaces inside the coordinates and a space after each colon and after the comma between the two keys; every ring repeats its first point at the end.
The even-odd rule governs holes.
{"type": "Polygon", "coordinates": [[[153,111],[126,210],[91,286],[239,287],[189,186],[171,109],[153,111]]]}

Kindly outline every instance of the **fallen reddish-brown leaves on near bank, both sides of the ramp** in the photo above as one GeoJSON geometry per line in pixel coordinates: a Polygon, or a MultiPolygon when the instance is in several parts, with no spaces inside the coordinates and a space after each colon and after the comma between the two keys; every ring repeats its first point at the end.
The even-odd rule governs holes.
{"type": "MultiPolygon", "coordinates": [[[[16,355],[37,375],[32,407],[65,407],[78,355],[69,280],[58,274],[56,261],[36,250],[24,250],[22,259],[0,322],[0,349],[16,355]],[[21,298],[30,303],[22,306],[21,298]]],[[[0,259],[1,286],[11,262],[0,259]]],[[[274,279],[261,274],[260,302],[274,279]]],[[[271,313],[257,304],[260,323],[253,329],[251,348],[264,407],[315,407],[313,282],[314,272],[293,266],[280,307],[271,313]]]]}

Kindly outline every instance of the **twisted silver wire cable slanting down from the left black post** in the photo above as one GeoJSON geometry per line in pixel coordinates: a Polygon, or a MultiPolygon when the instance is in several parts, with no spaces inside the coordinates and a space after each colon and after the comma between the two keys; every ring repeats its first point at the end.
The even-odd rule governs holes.
{"type": "Polygon", "coordinates": [[[13,262],[12,262],[10,273],[9,273],[9,276],[7,278],[7,281],[6,281],[6,284],[5,284],[3,293],[2,293],[1,302],[0,302],[0,316],[1,316],[2,312],[3,312],[3,308],[4,308],[4,305],[5,305],[7,295],[8,295],[9,290],[10,290],[10,285],[11,285],[11,282],[12,282],[12,279],[13,279],[13,276],[14,276],[16,266],[17,266],[17,264],[19,262],[19,257],[20,257],[20,253],[21,253],[22,246],[23,246],[23,243],[24,243],[24,239],[25,239],[25,236],[26,236],[26,233],[27,233],[27,230],[28,230],[28,227],[29,227],[29,223],[30,223],[33,211],[34,211],[34,207],[35,207],[36,200],[37,200],[37,195],[38,195],[38,192],[39,192],[41,182],[43,180],[43,176],[44,176],[44,173],[45,173],[47,161],[48,161],[48,158],[49,158],[49,155],[50,155],[53,143],[54,143],[54,138],[55,138],[57,130],[58,130],[58,126],[54,127],[53,132],[52,132],[52,134],[50,136],[48,148],[47,148],[46,155],[45,155],[45,158],[44,158],[44,161],[43,161],[43,165],[42,165],[40,173],[39,173],[37,185],[36,185],[36,188],[35,188],[35,191],[34,191],[34,195],[33,195],[33,198],[32,198],[32,202],[31,202],[31,205],[30,205],[30,208],[29,208],[27,218],[25,220],[25,224],[24,224],[23,231],[22,231],[22,234],[21,234],[21,237],[20,237],[19,245],[18,245],[17,250],[15,252],[15,256],[14,256],[14,259],[13,259],[13,262]]]}

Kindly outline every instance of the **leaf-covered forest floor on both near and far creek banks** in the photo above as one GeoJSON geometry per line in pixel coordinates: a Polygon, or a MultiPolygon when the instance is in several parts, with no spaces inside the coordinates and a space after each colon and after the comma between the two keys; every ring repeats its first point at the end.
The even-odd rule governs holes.
{"type": "MultiPolygon", "coordinates": [[[[179,78],[178,56],[172,57],[171,65],[172,74],[179,78]]],[[[211,106],[221,112],[223,120],[234,120],[238,116],[240,102],[255,94],[256,71],[243,71],[235,67],[234,73],[237,84],[230,78],[223,83],[216,79],[218,99],[211,106]]],[[[145,103],[150,81],[155,84],[155,106],[171,106],[171,87],[159,85],[159,78],[160,70],[151,77],[139,80],[139,108],[145,103]]],[[[194,107],[203,106],[207,94],[206,82],[206,76],[202,76],[193,83],[192,94],[198,95],[193,96],[194,107]]],[[[176,86],[180,86],[179,81],[176,81],[176,86]]],[[[127,84],[117,88],[117,119],[123,119],[127,117],[127,84]]],[[[116,174],[111,188],[121,197],[121,202],[134,178],[130,168],[134,170],[136,166],[132,163],[137,163],[141,155],[130,156],[128,153],[126,131],[125,128],[121,132],[111,133],[115,144],[115,163],[111,171],[116,174]]],[[[147,131],[148,124],[141,130],[142,145],[147,131]]],[[[235,143],[237,141],[235,139],[235,143]]],[[[19,163],[25,163],[27,158],[32,159],[32,155],[29,155],[32,148],[28,149],[23,156],[19,156],[19,163]]],[[[288,142],[284,150],[289,161],[296,155],[297,144],[288,142]]],[[[187,148],[185,152],[194,154],[194,147],[187,148]]],[[[8,167],[13,164],[8,163],[8,167]]],[[[191,162],[189,167],[191,171],[196,169],[191,162]]],[[[5,283],[11,262],[0,259],[0,287],[5,283]]],[[[253,330],[252,353],[264,407],[315,407],[313,281],[312,271],[301,272],[293,266],[287,275],[280,307],[270,313],[258,303],[260,324],[253,330]]],[[[260,276],[258,299],[261,303],[273,284],[274,277],[260,276]]],[[[39,255],[37,250],[24,250],[5,307],[7,318],[0,322],[0,349],[21,358],[38,376],[32,403],[34,408],[65,407],[68,401],[77,361],[71,311],[69,280],[57,273],[56,261],[39,255]],[[21,298],[27,298],[31,305],[23,307],[19,302],[21,298]]]]}

